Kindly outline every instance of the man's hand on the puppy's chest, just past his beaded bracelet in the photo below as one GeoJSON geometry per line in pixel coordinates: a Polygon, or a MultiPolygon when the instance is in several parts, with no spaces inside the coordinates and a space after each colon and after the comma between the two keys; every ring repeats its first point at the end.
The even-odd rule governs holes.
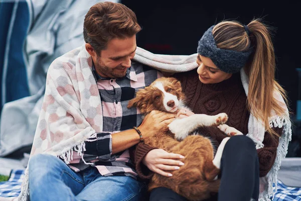
{"type": "Polygon", "coordinates": [[[152,111],[145,116],[138,129],[141,131],[143,139],[150,138],[159,133],[165,126],[175,119],[175,114],[161,111],[152,111]]]}

